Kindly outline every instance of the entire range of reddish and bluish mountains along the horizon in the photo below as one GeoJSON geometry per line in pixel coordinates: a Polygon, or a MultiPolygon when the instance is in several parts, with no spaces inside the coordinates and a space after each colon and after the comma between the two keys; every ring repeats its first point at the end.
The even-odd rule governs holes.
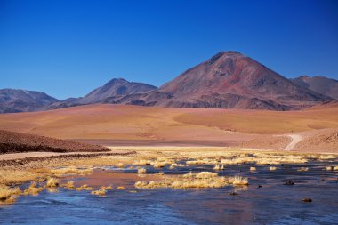
{"type": "Polygon", "coordinates": [[[159,88],[114,78],[84,97],[56,100],[43,92],[0,90],[0,113],[110,103],[173,108],[296,110],[338,99],[338,81],[287,79],[240,52],[219,52],[159,88]],[[37,94],[38,93],[38,94],[37,94]],[[26,94],[26,95],[25,95],[26,94]],[[8,96],[12,96],[11,98],[8,96]]]}

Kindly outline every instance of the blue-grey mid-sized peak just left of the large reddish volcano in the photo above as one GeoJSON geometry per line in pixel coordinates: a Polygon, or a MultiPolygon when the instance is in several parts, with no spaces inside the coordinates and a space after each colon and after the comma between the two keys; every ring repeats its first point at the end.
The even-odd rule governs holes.
{"type": "Polygon", "coordinates": [[[54,108],[67,108],[78,105],[94,104],[94,103],[109,103],[115,102],[125,96],[145,93],[156,90],[157,87],[149,84],[129,82],[123,78],[114,78],[107,84],[96,88],[92,92],[86,94],[81,98],[69,98],[67,100],[61,100],[45,109],[54,108]]]}

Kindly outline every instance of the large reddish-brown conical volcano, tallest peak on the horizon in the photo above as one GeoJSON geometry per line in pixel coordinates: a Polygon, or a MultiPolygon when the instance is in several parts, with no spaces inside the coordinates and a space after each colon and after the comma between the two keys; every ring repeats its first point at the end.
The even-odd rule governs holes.
{"type": "Polygon", "coordinates": [[[219,52],[155,91],[116,103],[175,108],[291,110],[331,98],[296,85],[240,52],[219,52]]]}

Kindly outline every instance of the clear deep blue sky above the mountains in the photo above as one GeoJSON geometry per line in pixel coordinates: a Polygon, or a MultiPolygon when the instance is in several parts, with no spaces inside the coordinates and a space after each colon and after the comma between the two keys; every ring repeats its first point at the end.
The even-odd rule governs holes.
{"type": "Polygon", "coordinates": [[[0,88],[83,96],[161,85],[220,51],[338,79],[338,1],[0,0],[0,88]]]}

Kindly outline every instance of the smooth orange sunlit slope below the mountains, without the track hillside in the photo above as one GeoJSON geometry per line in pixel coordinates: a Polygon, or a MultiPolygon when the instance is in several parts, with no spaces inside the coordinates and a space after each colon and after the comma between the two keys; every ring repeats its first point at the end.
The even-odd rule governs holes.
{"type": "Polygon", "coordinates": [[[338,127],[338,107],[277,112],[107,104],[0,115],[1,129],[62,139],[244,141],[254,133],[329,127],[338,127]]]}

